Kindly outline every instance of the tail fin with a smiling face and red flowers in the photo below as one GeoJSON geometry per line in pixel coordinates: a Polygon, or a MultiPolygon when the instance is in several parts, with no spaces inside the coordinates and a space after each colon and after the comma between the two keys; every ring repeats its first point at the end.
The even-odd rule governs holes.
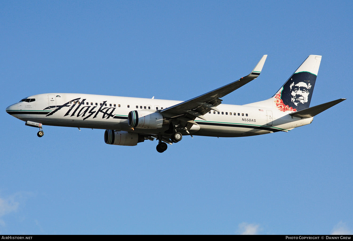
{"type": "Polygon", "coordinates": [[[299,111],[309,108],[320,62],[320,55],[309,55],[271,98],[275,104],[274,107],[281,111],[299,111]]]}

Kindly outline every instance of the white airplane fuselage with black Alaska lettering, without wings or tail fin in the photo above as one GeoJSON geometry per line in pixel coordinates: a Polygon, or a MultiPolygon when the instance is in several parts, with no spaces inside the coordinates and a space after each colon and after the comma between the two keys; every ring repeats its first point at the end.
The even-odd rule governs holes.
{"type": "MultiPolygon", "coordinates": [[[[34,101],[21,101],[7,107],[6,111],[22,121],[43,125],[69,126],[123,130],[141,134],[163,134],[168,125],[160,129],[133,129],[127,124],[127,116],[133,110],[159,112],[182,101],[117,97],[92,94],[49,93],[28,97],[34,101]]],[[[296,118],[278,109],[227,105],[217,106],[220,112],[210,111],[206,120],[196,118],[190,134],[216,137],[240,137],[288,131],[310,124],[313,118],[296,118]]],[[[188,135],[184,132],[183,135],[188,135]]]]}

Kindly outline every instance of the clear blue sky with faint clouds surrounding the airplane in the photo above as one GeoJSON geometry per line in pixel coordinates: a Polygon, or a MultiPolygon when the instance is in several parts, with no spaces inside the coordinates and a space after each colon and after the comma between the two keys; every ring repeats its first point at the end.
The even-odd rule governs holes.
{"type": "Polygon", "coordinates": [[[351,1],[1,1],[0,234],[353,233],[351,1]],[[186,100],[271,97],[322,55],[310,125],[184,136],[157,153],[104,130],[37,129],[5,108],[40,93],[186,100]]]}

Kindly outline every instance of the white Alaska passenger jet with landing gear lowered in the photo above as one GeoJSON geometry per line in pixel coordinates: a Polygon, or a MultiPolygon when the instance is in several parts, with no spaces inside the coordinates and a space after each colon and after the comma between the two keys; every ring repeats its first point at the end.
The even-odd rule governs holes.
{"type": "Polygon", "coordinates": [[[43,125],[106,129],[104,142],[136,146],[158,140],[157,151],[183,136],[241,137],[288,132],[310,124],[313,117],[345,99],[310,107],[321,62],[309,55],[273,97],[246,105],[221,104],[222,97],[256,79],[264,55],[250,74],[228,85],[186,101],[93,94],[47,93],[31,95],[6,108],[10,115],[39,128],[43,125]]]}

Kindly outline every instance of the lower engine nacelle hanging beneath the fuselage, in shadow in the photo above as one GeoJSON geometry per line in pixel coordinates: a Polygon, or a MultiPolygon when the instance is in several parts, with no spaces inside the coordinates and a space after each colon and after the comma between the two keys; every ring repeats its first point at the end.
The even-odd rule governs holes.
{"type": "Polygon", "coordinates": [[[139,142],[144,142],[145,138],[137,133],[127,131],[106,130],[104,132],[104,142],[119,146],[136,146],[139,142]]]}

